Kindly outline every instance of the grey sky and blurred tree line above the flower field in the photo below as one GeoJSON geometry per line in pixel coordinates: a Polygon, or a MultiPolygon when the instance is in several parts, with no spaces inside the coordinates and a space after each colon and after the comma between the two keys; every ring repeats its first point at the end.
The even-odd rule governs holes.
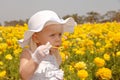
{"type": "Polygon", "coordinates": [[[23,25],[45,9],[78,23],[120,21],[120,0],[0,0],[0,25],[23,25]]]}

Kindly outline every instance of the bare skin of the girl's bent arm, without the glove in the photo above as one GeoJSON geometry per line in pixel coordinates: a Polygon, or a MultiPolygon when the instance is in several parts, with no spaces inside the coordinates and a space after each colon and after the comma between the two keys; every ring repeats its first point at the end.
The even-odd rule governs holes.
{"type": "Polygon", "coordinates": [[[28,50],[24,50],[20,57],[20,76],[22,80],[29,80],[34,74],[38,64],[33,61],[28,50]]]}

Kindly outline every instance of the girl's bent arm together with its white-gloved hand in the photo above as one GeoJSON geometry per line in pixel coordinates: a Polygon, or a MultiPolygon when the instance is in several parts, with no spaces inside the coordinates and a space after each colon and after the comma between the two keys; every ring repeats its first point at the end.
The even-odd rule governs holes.
{"type": "Polygon", "coordinates": [[[41,60],[49,54],[49,48],[50,46],[47,44],[41,45],[37,47],[32,55],[27,49],[23,51],[20,58],[20,75],[23,80],[30,79],[41,60]]]}

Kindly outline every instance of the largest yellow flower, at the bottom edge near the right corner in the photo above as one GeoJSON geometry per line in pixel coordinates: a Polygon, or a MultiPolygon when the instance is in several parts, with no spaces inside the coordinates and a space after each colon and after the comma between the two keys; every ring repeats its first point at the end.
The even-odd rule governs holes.
{"type": "Polygon", "coordinates": [[[100,68],[96,72],[96,76],[100,77],[102,80],[110,80],[112,77],[112,72],[108,68],[100,68]]]}

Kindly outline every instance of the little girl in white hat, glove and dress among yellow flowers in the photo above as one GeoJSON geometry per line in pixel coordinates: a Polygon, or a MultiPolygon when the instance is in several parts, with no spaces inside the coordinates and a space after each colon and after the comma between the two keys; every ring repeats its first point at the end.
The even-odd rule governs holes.
{"type": "Polygon", "coordinates": [[[63,80],[58,47],[61,45],[62,33],[72,32],[74,26],[73,18],[60,19],[50,10],[37,12],[30,18],[29,29],[24,39],[19,40],[20,46],[24,48],[19,70],[22,80],[63,80]]]}

